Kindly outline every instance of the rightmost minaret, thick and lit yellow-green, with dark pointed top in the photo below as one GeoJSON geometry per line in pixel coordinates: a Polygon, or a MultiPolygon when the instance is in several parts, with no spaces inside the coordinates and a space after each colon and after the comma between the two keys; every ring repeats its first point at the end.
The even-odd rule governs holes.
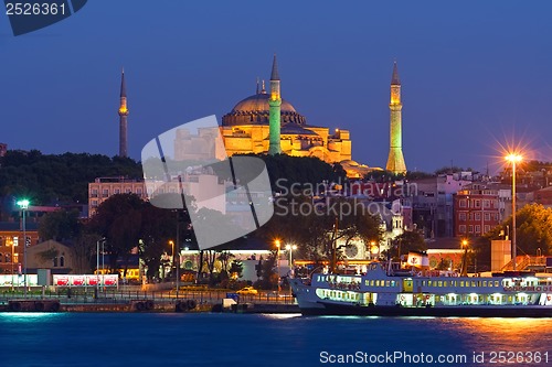
{"type": "Polygon", "coordinates": [[[406,164],[403,156],[403,136],[401,110],[401,80],[396,62],[393,65],[393,76],[391,77],[391,102],[390,109],[390,147],[386,170],[394,174],[406,173],[406,164]]]}

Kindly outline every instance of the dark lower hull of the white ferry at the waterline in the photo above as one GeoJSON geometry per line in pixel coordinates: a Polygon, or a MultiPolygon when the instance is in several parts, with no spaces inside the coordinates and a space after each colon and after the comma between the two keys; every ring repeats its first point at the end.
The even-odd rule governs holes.
{"type": "Polygon", "coordinates": [[[550,306],[360,306],[319,302],[321,307],[301,309],[304,315],[432,316],[432,317],[552,317],[550,306]]]}

